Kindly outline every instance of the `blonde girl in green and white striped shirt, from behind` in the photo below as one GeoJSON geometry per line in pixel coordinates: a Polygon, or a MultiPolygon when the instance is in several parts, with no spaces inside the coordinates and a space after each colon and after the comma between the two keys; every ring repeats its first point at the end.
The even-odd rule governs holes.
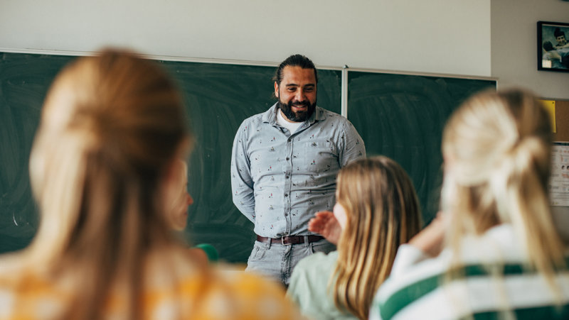
{"type": "Polygon", "coordinates": [[[515,89],[479,94],[450,118],[442,146],[444,216],[400,247],[370,318],[568,319],[543,106],[515,89]]]}

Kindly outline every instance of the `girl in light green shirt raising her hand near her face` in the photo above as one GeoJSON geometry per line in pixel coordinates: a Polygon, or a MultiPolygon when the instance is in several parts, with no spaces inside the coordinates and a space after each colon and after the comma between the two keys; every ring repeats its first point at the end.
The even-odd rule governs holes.
{"type": "Polygon", "coordinates": [[[403,167],[383,156],[350,162],[337,181],[334,213],[317,213],[309,228],[328,237],[324,228],[338,224],[338,250],[302,259],[287,295],[311,319],[368,319],[398,246],[420,230],[419,202],[403,167]]]}

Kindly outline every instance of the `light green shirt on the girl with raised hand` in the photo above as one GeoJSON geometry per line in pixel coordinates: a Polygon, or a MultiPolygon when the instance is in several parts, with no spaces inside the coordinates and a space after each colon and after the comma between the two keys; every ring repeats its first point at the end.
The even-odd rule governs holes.
{"type": "Polygon", "coordinates": [[[357,319],[349,311],[336,308],[334,298],[328,291],[328,280],[337,260],[338,251],[328,255],[314,253],[294,267],[287,297],[297,304],[304,316],[318,320],[357,319]]]}

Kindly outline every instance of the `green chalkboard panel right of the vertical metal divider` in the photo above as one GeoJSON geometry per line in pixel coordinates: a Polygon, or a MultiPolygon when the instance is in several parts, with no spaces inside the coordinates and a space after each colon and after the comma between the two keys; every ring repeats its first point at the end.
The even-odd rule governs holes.
{"type": "Polygon", "coordinates": [[[366,152],[385,155],[410,175],[425,223],[437,214],[442,184],[442,130],[468,96],[496,88],[487,79],[348,72],[348,118],[366,152]]]}

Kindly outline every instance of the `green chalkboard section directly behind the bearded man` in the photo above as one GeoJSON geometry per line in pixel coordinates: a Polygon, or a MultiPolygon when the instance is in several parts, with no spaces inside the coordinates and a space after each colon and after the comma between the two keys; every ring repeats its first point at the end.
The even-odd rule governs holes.
{"type": "MultiPolygon", "coordinates": [[[[179,80],[197,143],[189,164],[188,189],[194,199],[187,235],[211,243],[220,259],[245,263],[255,235],[253,225],[233,205],[230,156],[241,122],[267,111],[276,101],[275,67],[164,62],[179,80]]],[[[318,70],[318,104],[341,111],[341,71],[318,70]]]]}

